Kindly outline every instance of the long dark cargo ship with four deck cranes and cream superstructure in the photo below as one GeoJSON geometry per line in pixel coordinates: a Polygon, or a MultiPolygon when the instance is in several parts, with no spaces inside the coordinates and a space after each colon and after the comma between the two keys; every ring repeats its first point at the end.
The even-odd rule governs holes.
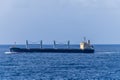
{"type": "Polygon", "coordinates": [[[79,49],[70,48],[70,41],[67,43],[67,48],[59,49],[56,48],[56,42],[54,41],[53,48],[43,48],[42,41],[40,42],[40,48],[29,48],[28,40],[26,40],[26,48],[11,47],[10,52],[13,53],[94,53],[94,47],[90,44],[90,40],[80,43],[79,49]]]}

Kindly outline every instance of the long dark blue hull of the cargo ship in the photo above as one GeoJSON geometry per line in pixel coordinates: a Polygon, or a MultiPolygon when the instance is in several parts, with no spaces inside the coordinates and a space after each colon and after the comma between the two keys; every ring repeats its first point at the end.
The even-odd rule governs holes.
{"type": "Polygon", "coordinates": [[[40,53],[94,53],[94,49],[40,49],[40,48],[10,48],[10,52],[40,52],[40,53]]]}

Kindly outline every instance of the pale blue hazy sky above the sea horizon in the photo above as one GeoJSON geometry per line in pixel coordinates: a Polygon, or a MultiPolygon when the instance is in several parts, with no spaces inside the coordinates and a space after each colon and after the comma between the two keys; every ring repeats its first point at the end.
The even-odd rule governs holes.
{"type": "Polygon", "coordinates": [[[120,0],[0,0],[0,44],[120,44],[120,0]]]}

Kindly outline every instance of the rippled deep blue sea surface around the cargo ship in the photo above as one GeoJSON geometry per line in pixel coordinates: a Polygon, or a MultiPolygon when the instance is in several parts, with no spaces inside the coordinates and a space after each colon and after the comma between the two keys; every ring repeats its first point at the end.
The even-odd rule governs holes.
{"type": "Polygon", "coordinates": [[[94,45],[94,54],[5,53],[10,46],[0,46],[0,80],[120,80],[120,45],[94,45]]]}

